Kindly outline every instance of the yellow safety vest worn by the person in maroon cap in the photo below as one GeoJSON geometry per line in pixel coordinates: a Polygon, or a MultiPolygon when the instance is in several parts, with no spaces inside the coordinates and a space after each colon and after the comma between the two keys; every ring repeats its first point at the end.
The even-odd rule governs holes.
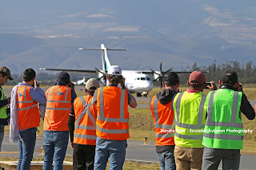
{"type": "Polygon", "coordinates": [[[174,141],[186,148],[204,148],[203,128],[206,124],[206,95],[201,93],[178,93],[173,101],[175,114],[174,141]]]}

